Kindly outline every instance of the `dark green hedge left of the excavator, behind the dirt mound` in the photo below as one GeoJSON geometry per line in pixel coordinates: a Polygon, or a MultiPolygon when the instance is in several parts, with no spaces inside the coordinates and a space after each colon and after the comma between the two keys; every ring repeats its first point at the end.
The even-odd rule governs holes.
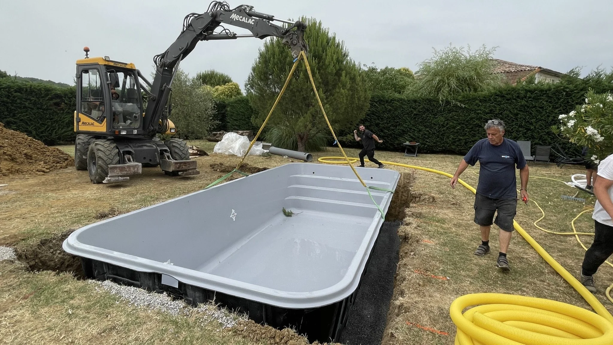
{"type": "Polygon", "coordinates": [[[74,141],[74,87],[0,79],[0,122],[47,145],[74,141]]]}

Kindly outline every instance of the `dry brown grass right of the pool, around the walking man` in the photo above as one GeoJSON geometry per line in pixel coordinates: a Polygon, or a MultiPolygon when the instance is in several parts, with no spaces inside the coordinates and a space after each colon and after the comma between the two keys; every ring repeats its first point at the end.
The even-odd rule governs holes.
{"type": "MultiPolygon", "coordinates": [[[[379,160],[387,158],[386,154],[380,156],[379,160]]],[[[424,155],[400,160],[389,157],[387,160],[403,160],[402,163],[410,161],[413,165],[453,173],[460,159],[458,156],[424,155]]],[[[583,172],[580,167],[566,166],[559,169],[555,165],[530,165],[530,169],[533,176],[560,180],[570,180],[571,174],[583,172]]],[[[469,168],[462,178],[476,187],[478,176],[473,171],[478,171],[478,167],[469,168]]],[[[449,187],[449,178],[425,171],[416,172],[413,190],[430,193],[435,201],[413,204],[405,225],[399,231],[406,237],[401,244],[397,281],[384,344],[451,344],[455,326],[449,318],[449,304],[467,293],[511,293],[549,298],[589,308],[581,296],[517,233],[509,249],[510,273],[503,274],[495,268],[498,251],[498,229],[495,226],[490,238],[492,254],[485,257],[473,255],[473,250],[479,244],[479,230],[473,223],[474,196],[471,192],[463,187],[453,190],[449,187]],[[449,280],[438,277],[449,277],[449,280]],[[425,330],[417,324],[432,329],[425,330]]],[[[531,179],[528,191],[530,198],[538,201],[546,212],[541,227],[555,231],[572,231],[571,220],[584,207],[593,206],[595,201],[585,193],[578,195],[587,198],[585,204],[562,200],[561,195],[574,195],[576,189],[552,180],[531,179]]],[[[550,235],[535,228],[532,223],[541,216],[541,212],[533,203],[522,203],[517,208],[517,222],[568,271],[577,275],[584,250],[576,239],[550,235]]],[[[576,227],[578,231],[593,231],[589,212],[576,222],[576,227]]],[[[582,236],[582,240],[589,246],[592,238],[582,236]]],[[[609,311],[613,311],[613,308],[604,297],[604,288],[611,282],[613,269],[603,266],[596,274],[596,283],[601,288],[601,293],[596,296],[609,311]]]]}

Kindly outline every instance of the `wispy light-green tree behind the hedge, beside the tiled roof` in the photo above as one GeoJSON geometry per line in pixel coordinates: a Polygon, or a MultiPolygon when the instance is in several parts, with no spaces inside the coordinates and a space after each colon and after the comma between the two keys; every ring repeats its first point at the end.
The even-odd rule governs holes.
{"type": "Polygon", "coordinates": [[[470,45],[434,50],[432,58],[422,61],[417,71],[417,93],[453,101],[462,93],[478,92],[501,84],[492,74],[495,48],[482,45],[472,52],[470,45]]]}

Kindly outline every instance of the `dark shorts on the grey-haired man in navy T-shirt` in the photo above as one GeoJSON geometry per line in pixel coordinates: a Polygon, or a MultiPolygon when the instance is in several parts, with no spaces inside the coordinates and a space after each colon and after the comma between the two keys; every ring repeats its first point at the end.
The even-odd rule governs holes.
{"type": "Polygon", "coordinates": [[[474,196],[474,222],[483,227],[498,225],[504,231],[513,231],[513,219],[517,213],[517,198],[492,199],[477,193],[474,196]],[[496,220],[494,213],[498,211],[496,220]]]}

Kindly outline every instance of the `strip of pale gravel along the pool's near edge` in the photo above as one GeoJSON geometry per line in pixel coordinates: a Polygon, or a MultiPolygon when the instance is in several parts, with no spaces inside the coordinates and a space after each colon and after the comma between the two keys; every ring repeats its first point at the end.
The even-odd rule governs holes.
{"type": "Polygon", "coordinates": [[[112,281],[89,282],[98,285],[96,286],[97,291],[100,291],[101,287],[103,290],[110,292],[113,295],[118,295],[121,297],[121,299],[128,301],[129,304],[139,308],[151,310],[155,309],[163,312],[169,312],[172,315],[189,314],[195,310],[197,313],[202,315],[204,320],[216,320],[219,322],[219,325],[221,325],[222,328],[234,327],[237,320],[244,319],[244,317],[223,311],[213,304],[200,304],[199,308],[192,308],[184,301],[173,300],[166,293],[150,293],[138,287],[120,285],[112,281]]]}

